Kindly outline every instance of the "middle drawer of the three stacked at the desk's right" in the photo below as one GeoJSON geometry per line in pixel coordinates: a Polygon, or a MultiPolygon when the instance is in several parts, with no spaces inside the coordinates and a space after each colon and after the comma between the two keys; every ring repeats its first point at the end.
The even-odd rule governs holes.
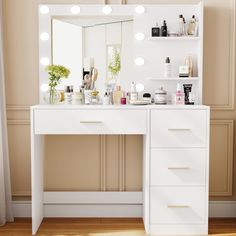
{"type": "Polygon", "coordinates": [[[205,185],[206,149],[152,149],[151,185],[205,185]]]}

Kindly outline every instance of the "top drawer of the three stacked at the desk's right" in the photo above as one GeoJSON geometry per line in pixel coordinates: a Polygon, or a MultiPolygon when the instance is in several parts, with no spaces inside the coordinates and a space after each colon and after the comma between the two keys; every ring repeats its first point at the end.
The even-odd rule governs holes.
{"type": "Polygon", "coordinates": [[[207,141],[205,110],[151,111],[152,147],[205,147],[207,141]]]}

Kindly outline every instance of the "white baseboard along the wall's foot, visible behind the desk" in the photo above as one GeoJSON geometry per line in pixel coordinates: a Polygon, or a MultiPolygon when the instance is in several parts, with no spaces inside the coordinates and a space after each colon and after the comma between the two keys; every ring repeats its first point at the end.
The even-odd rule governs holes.
{"type": "MultiPolygon", "coordinates": [[[[13,201],[15,217],[31,217],[30,201],[13,201]]],[[[142,204],[46,204],[45,217],[142,217],[142,204]]],[[[236,201],[210,201],[209,217],[236,217],[236,201]]]]}

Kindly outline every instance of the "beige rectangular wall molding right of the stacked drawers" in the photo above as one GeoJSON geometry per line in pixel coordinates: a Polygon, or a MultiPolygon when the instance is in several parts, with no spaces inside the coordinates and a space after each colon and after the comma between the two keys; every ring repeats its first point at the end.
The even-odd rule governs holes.
{"type": "Polygon", "coordinates": [[[211,197],[230,197],[233,195],[233,145],[234,145],[234,121],[233,120],[211,120],[211,126],[224,125],[227,126],[228,138],[227,138],[227,190],[224,192],[211,192],[211,197]]]}

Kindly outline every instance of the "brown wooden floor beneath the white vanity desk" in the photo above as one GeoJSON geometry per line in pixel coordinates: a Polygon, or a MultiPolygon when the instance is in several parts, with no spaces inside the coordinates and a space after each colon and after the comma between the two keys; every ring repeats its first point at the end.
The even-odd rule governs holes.
{"type": "MultiPolygon", "coordinates": [[[[0,227],[0,235],[31,235],[31,219],[15,219],[0,227]]],[[[146,235],[141,219],[44,219],[38,236],[144,236],[146,235]]],[[[209,235],[236,236],[236,219],[210,219],[209,235]]]]}

